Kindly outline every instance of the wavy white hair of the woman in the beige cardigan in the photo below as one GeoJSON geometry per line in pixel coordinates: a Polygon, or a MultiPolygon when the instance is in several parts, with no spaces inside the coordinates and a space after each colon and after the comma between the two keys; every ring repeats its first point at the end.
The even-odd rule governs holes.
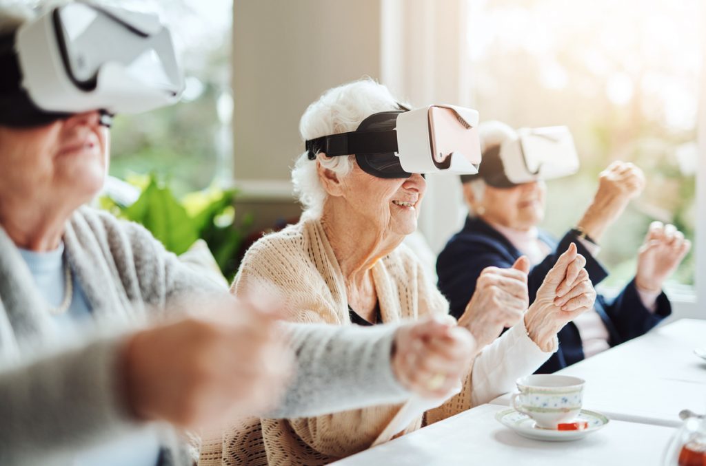
{"type": "MultiPolygon", "coordinates": [[[[397,100],[387,87],[371,78],[363,78],[324,92],[301,116],[299,133],[303,140],[347,133],[356,130],[358,125],[372,114],[399,108],[397,100]]],[[[321,153],[316,154],[316,160],[321,166],[339,177],[350,173],[354,158],[354,155],[329,158],[321,153]]],[[[301,154],[295,162],[292,183],[294,195],[304,206],[302,216],[314,219],[321,217],[327,194],[318,178],[316,161],[309,160],[308,152],[301,154]]]]}

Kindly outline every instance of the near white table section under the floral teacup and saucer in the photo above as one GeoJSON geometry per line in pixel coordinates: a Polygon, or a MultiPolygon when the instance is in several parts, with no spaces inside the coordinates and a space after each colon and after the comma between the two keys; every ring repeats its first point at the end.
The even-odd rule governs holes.
{"type": "Polygon", "coordinates": [[[481,405],[335,463],[372,465],[661,465],[674,429],[613,421],[585,439],[525,439],[481,405]]]}

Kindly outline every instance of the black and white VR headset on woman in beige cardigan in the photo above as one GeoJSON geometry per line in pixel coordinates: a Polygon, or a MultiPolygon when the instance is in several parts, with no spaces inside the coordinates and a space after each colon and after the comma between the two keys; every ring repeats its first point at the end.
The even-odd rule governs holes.
{"type": "Polygon", "coordinates": [[[354,154],[378,178],[412,173],[477,173],[481,163],[478,112],[453,105],[400,106],[365,118],[357,130],[306,141],[310,160],[354,154]]]}

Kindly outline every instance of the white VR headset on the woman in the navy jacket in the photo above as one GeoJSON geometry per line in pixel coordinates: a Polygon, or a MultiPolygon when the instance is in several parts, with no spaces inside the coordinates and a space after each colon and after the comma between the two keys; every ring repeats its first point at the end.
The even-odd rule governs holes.
{"type": "Polygon", "coordinates": [[[461,179],[467,182],[480,178],[494,188],[512,188],[573,175],[579,166],[573,137],[566,126],[521,128],[517,137],[486,148],[478,173],[461,179]]]}

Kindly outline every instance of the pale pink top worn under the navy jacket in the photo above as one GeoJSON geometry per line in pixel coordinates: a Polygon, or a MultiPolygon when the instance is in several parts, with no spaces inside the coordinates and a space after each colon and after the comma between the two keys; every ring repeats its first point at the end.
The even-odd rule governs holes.
{"type": "MultiPolygon", "coordinates": [[[[549,245],[539,239],[537,227],[532,227],[528,231],[521,231],[515,228],[498,225],[497,223],[490,223],[490,225],[505,236],[505,238],[508,238],[508,241],[510,241],[518,251],[526,255],[527,258],[530,259],[532,266],[542,262],[551,252],[549,245]]],[[[578,240],[593,257],[598,254],[600,247],[583,238],[578,238],[578,240]]],[[[647,310],[650,312],[657,310],[657,297],[659,297],[659,293],[645,292],[638,288],[638,295],[640,296],[642,304],[647,307],[647,310]]],[[[596,312],[595,308],[584,312],[574,319],[573,322],[581,336],[583,354],[585,357],[591,357],[610,348],[608,344],[608,329],[606,329],[603,320],[598,312],[596,312]]]]}

